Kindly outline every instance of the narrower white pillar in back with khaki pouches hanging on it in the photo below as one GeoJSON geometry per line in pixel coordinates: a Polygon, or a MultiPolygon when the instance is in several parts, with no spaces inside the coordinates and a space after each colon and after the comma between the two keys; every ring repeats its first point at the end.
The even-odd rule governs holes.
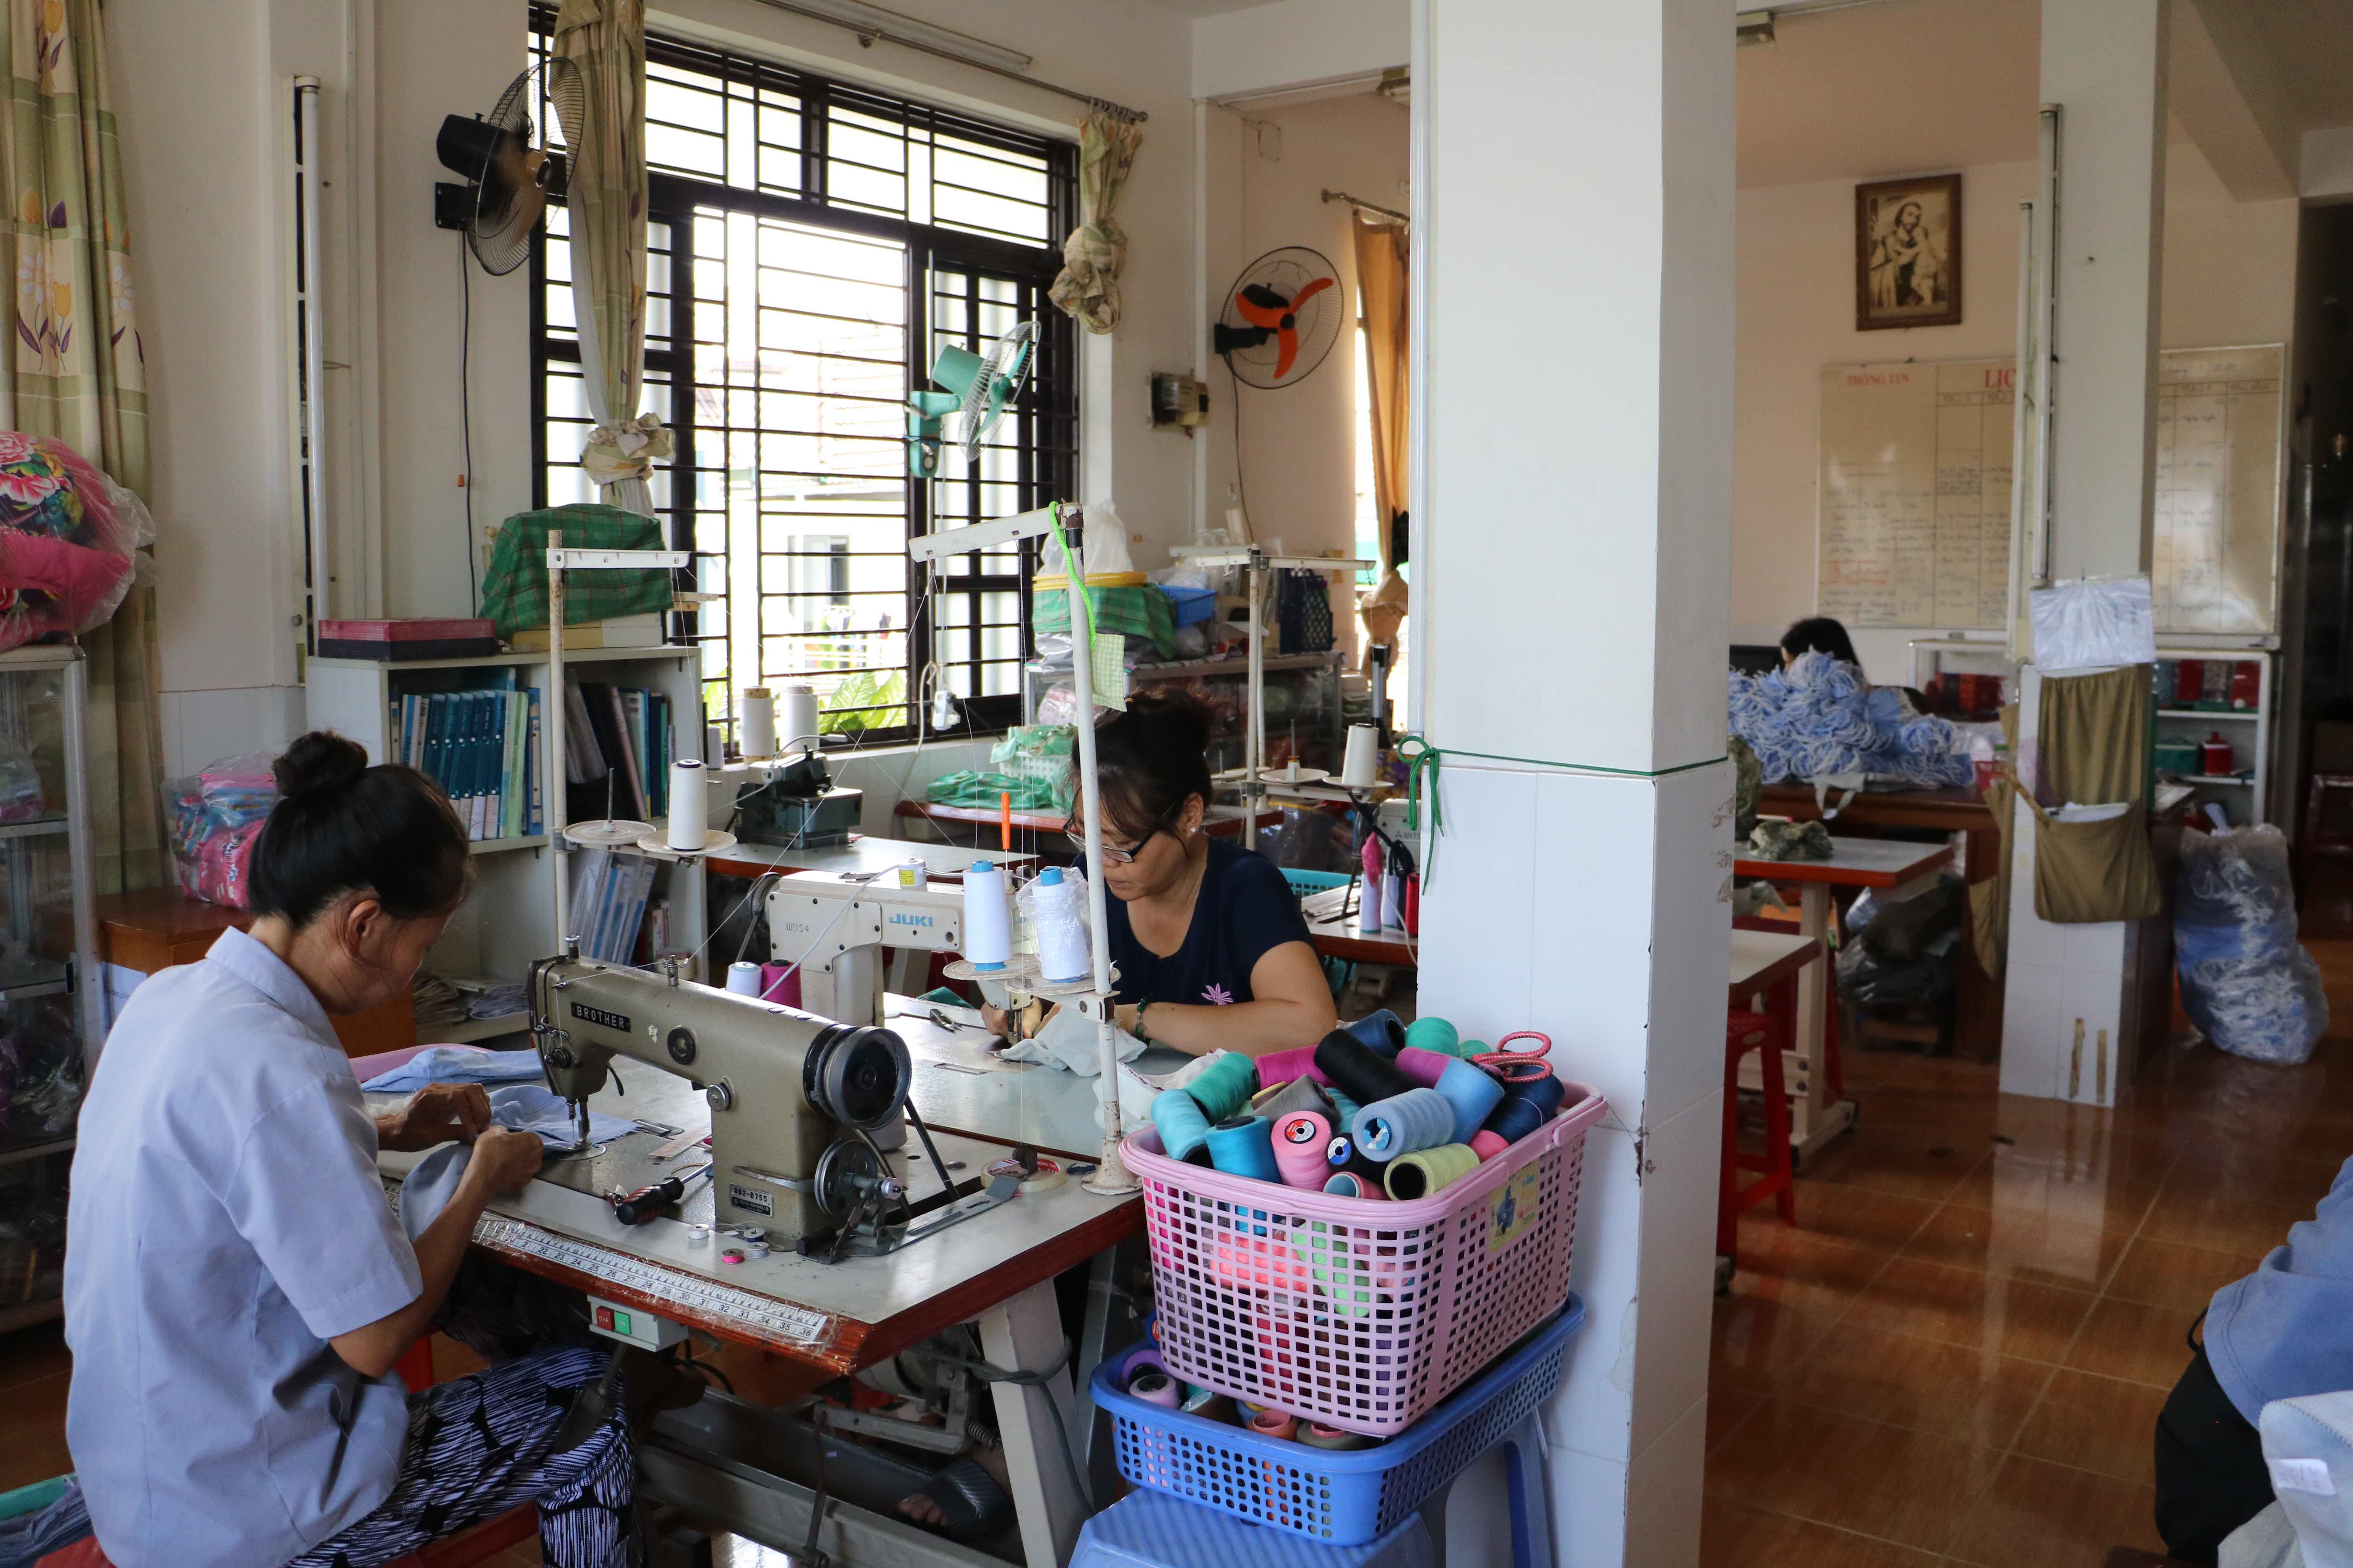
{"type": "MultiPolygon", "coordinates": [[[[2169,0],[2042,0],[2042,101],[2059,106],[2052,576],[2148,571],[2158,458],[2169,0]]],[[[2040,724],[2026,670],[2019,733],[2040,724]]],[[[2021,769],[2035,748],[2021,743],[2021,769]]],[[[2002,1088],[2113,1105],[2132,1079],[2139,926],[2035,917],[2035,825],[2012,823],[2002,1088]]]]}

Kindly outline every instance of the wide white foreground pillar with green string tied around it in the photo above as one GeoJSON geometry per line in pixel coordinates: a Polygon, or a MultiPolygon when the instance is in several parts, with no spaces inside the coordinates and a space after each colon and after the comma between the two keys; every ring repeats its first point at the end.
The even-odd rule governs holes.
{"type": "MultiPolygon", "coordinates": [[[[1600,1088],[1560,1561],[1692,1563],[1729,790],[1732,2],[1417,0],[1421,1011],[1600,1088]]],[[[1457,1561],[1501,1561],[1449,1512],[1457,1561]]]]}

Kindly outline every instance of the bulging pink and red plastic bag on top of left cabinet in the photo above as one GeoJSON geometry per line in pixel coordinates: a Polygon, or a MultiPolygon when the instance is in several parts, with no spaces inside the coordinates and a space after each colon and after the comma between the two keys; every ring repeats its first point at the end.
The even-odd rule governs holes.
{"type": "Polygon", "coordinates": [[[139,496],[66,442],[0,430],[0,651],[101,625],[151,543],[139,496]]]}

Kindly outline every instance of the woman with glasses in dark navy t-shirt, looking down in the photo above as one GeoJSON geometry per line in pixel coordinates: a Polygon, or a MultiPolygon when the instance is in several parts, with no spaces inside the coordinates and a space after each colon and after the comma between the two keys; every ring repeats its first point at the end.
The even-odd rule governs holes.
{"type": "MultiPolygon", "coordinates": [[[[1289,1051],[1337,1023],[1299,898],[1266,856],[1202,827],[1209,719],[1186,696],[1129,698],[1094,731],[1120,1027],[1155,1046],[1289,1051]]],[[[1085,846],[1082,823],[1071,837],[1085,846]]],[[[1002,1016],[988,1023],[1002,1030],[1002,1016]]]]}

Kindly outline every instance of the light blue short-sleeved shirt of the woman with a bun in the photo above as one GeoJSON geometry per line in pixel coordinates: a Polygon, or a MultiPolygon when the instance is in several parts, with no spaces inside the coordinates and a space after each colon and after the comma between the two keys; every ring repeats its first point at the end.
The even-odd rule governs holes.
{"type": "Polygon", "coordinates": [[[66,1208],[66,1441],[118,1568],[275,1568],[374,1509],[407,1392],[329,1340],[421,1291],[318,999],[224,931],[122,1009],[66,1208]]]}

